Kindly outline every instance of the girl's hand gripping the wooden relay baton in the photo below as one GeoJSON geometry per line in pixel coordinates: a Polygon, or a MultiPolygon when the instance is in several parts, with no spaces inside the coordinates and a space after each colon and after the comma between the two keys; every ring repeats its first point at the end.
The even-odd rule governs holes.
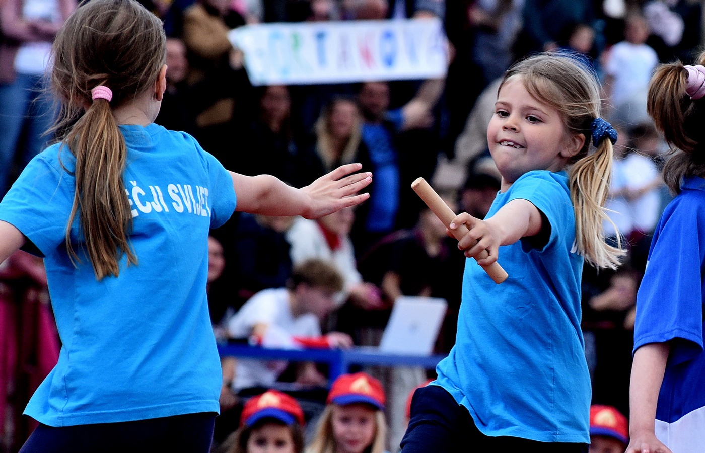
{"type": "Polygon", "coordinates": [[[503,242],[503,235],[499,228],[465,212],[458,214],[450,222],[451,234],[459,225],[465,225],[469,230],[458,242],[458,249],[464,250],[465,256],[477,259],[480,266],[489,266],[497,261],[499,246],[503,242]],[[485,250],[489,256],[479,259],[479,255],[485,250]]]}

